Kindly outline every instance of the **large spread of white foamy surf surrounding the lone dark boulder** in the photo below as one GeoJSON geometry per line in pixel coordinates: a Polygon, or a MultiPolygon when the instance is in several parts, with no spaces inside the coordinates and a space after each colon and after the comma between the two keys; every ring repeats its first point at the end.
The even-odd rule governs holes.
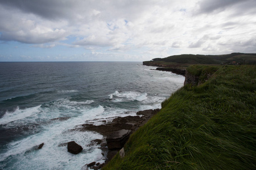
{"type": "Polygon", "coordinates": [[[62,167],[80,169],[84,164],[93,161],[103,163],[102,151],[97,146],[88,146],[90,141],[102,139],[103,136],[92,131],[71,129],[76,125],[84,124],[87,120],[102,117],[105,109],[99,105],[96,108],[84,109],[81,112],[81,115],[69,118],[67,121],[45,125],[44,131],[41,133],[9,143],[8,150],[0,155],[0,161],[8,161],[7,158],[13,156],[17,162],[12,162],[12,167],[20,164],[22,166],[19,166],[20,169],[62,169],[62,167]],[[58,146],[70,141],[77,142],[84,150],[74,156],[67,151],[67,147],[58,146]],[[40,143],[44,143],[41,150],[31,151],[31,148],[40,145],[40,143]]]}

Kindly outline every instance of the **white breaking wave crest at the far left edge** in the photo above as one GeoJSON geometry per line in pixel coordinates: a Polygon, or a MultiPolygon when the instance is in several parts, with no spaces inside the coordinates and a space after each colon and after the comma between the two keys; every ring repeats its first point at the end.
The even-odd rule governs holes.
{"type": "Polygon", "coordinates": [[[41,105],[27,109],[19,109],[19,107],[17,107],[14,112],[6,111],[6,113],[0,119],[0,125],[9,124],[10,122],[23,120],[24,118],[35,116],[35,114],[41,112],[40,107],[41,105]]]}

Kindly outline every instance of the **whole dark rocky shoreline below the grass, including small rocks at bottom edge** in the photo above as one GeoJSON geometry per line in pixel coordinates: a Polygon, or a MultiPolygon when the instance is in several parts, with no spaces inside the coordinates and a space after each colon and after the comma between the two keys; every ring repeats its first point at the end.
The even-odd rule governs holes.
{"type": "MultiPolygon", "coordinates": [[[[139,111],[136,113],[137,116],[117,117],[111,122],[102,120],[103,124],[98,126],[93,124],[82,124],[79,126],[79,128],[72,130],[89,130],[102,134],[104,136],[103,139],[93,140],[91,141],[90,145],[96,145],[102,150],[102,155],[105,157],[104,164],[106,164],[113,158],[115,154],[117,154],[118,151],[121,156],[125,155],[122,148],[129,139],[130,135],[139,127],[146,124],[146,122],[159,111],[160,109],[139,111]]],[[[79,146],[76,147],[80,148],[79,146]]],[[[92,162],[85,164],[82,169],[100,169],[104,164],[92,162]]]]}

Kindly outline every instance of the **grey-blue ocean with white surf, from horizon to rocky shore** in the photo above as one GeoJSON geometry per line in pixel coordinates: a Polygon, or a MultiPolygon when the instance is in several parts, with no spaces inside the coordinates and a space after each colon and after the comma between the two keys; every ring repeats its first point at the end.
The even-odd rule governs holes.
{"type": "Polygon", "coordinates": [[[100,148],[89,145],[103,136],[72,129],[160,108],[184,76],[155,68],[142,62],[0,62],[0,169],[104,163],[100,148]],[[84,150],[73,155],[59,146],[70,141],[84,150]]]}

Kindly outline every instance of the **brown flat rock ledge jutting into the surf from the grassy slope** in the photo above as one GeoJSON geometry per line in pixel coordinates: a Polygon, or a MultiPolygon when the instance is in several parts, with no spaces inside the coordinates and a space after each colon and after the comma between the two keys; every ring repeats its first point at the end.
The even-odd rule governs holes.
{"type": "Polygon", "coordinates": [[[101,150],[108,151],[107,162],[120,150],[129,139],[130,135],[158,113],[160,109],[137,112],[138,116],[117,117],[112,122],[104,125],[83,124],[81,128],[74,130],[96,131],[104,135],[106,143],[101,144],[101,150]],[[106,148],[108,146],[108,148],[106,148]]]}

